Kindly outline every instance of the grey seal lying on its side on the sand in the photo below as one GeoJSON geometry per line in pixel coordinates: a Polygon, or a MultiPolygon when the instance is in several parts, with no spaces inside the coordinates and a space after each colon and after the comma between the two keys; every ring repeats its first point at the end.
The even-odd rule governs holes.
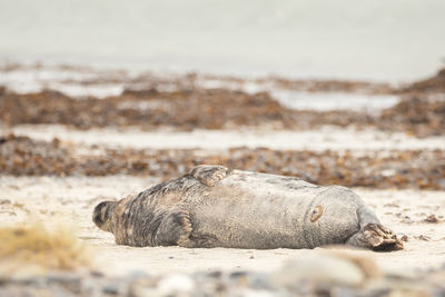
{"type": "Polygon", "coordinates": [[[201,165],[119,201],[102,201],[93,222],[118,245],[397,250],[403,242],[350,189],[201,165]]]}

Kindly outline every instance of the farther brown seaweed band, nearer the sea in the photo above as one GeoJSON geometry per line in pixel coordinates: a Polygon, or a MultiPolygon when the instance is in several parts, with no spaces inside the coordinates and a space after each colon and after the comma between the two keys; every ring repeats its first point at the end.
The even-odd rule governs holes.
{"type": "MultiPolygon", "coordinates": [[[[372,100],[372,99],[369,99],[372,100]]],[[[427,95],[403,96],[399,103],[382,115],[352,110],[294,110],[281,106],[268,92],[247,93],[231,89],[126,90],[107,98],[73,98],[58,91],[0,96],[0,123],[59,123],[78,129],[139,127],[307,130],[322,126],[354,126],[404,131],[418,137],[441,136],[445,131],[445,100],[427,95]]]]}

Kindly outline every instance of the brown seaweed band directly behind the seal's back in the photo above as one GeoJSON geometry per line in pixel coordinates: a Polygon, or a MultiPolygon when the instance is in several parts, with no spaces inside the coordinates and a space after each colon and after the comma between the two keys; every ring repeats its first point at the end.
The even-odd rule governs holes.
{"type": "MultiPolygon", "coordinates": [[[[76,154],[73,145],[9,135],[0,138],[0,174],[109,176],[142,175],[168,180],[196,165],[222,165],[267,174],[295,176],[313,184],[346,187],[445,189],[444,150],[350,152],[274,150],[246,147],[217,151],[194,149],[101,148],[101,154],[76,154]],[[407,162],[406,160],[409,160],[407,162]],[[382,171],[394,168],[395,175],[382,171]],[[419,179],[424,182],[417,182],[419,179]]],[[[98,147],[96,147],[98,149],[98,147]]],[[[409,218],[405,219],[409,222],[409,218]]]]}

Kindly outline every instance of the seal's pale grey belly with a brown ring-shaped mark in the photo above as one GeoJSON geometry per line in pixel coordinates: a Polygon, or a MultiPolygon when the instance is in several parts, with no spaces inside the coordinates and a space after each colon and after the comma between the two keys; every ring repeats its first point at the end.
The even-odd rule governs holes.
{"type": "Polygon", "coordinates": [[[332,198],[329,188],[303,180],[235,170],[204,192],[192,236],[236,248],[342,244],[357,224],[356,205],[332,198]]]}

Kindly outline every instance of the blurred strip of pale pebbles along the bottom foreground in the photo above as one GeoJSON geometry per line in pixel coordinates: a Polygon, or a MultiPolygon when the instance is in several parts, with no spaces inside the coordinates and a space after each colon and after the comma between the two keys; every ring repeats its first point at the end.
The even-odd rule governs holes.
{"type": "Polygon", "coordinates": [[[0,296],[444,296],[445,263],[435,270],[372,275],[365,273],[366,261],[370,259],[365,254],[320,253],[294,259],[274,273],[214,270],[150,276],[135,271],[111,278],[52,271],[20,280],[3,278],[0,296]]]}

